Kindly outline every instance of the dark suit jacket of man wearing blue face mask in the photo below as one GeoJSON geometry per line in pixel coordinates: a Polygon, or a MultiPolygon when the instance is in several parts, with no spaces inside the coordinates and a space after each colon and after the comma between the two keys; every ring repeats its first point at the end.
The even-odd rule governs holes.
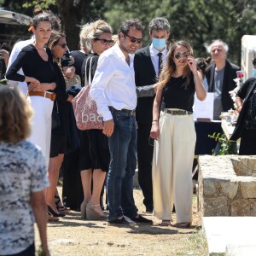
{"type": "MultiPolygon", "coordinates": [[[[154,66],[151,61],[149,45],[138,49],[134,57],[134,72],[136,86],[151,85],[157,82],[154,66]]],[[[137,122],[151,124],[154,96],[137,98],[137,122]]]]}

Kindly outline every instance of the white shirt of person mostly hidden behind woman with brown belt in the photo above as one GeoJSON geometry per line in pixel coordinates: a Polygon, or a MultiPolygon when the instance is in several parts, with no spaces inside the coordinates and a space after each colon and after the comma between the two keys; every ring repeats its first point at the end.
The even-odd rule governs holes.
{"type": "MultiPolygon", "coordinates": [[[[9,56],[9,63],[6,68],[6,72],[8,71],[9,67],[13,64],[13,62],[16,60],[17,56],[20,54],[21,49],[23,49],[26,45],[32,44],[35,41],[35,37],[32,36],[32,38],[20,41],[15,44],[14,48],[12,49],[12,52],[9,56]]],[[[18,71],[21,75],[24,75],[22,68],[18,71]]],[[[9,80],[8,84],[10,84],[13,87],[18,87],[20,91],[26,96],[27,95],[27,84],[26,82],[17,82],[17,81],[11,81],[9,80]]]]}

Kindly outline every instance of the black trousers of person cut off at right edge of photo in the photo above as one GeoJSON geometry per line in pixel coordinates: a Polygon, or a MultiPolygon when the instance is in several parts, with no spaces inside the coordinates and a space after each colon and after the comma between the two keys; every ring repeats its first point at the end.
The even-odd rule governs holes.
{"type": "Polygon", "coordinates": [[[241,134],[240,155],[256,154],[256,130],[244,129],[241,134]]]}

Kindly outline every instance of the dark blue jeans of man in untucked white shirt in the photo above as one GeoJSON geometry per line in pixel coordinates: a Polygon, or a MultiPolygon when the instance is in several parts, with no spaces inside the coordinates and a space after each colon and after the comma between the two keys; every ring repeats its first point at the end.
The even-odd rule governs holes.
{"type": "Polygon", "coordinates": [[[110,166],[107,179],[108,221],[137,216],[133,176],[137,166],[137,127],[134,115],[113,112],[114,130],[108,138],[110,166]]]}

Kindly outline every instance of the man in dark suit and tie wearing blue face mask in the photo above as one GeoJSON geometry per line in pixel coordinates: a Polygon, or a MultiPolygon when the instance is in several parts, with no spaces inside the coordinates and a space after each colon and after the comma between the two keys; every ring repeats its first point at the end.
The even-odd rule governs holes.
{"type": "Polygon", "coordinates": [[[165,18],[154,18],[148,30],[152,44],[137,50],[134,58],[135,82],[137,86],[137,162],[138,182],[143,190],[146,212],[153,211],[152,157],[153,147],[148,144],[152,125],[152,109],[156,83],[166,63],[166,41],[170,35],[170,24],[165,18]]]}

